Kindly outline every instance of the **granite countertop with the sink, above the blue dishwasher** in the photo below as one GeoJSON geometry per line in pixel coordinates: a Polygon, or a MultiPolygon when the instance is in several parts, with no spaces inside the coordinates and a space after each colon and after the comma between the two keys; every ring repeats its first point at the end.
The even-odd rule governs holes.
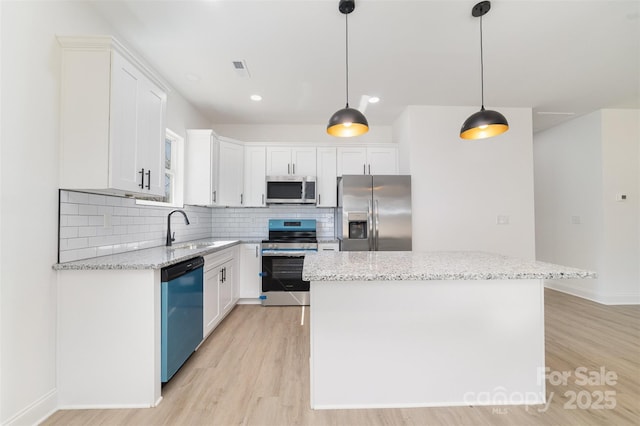
{"type": "Polygon", "coordinates": [[[204,239],[175,243],[172,247],[152,247],[128,251],[109,256],[56,263],[53,269],[62,270],[99,270],[99,269],[160,269],[183,260],[215,253],[240,244],[240,240],[204,239]]]}

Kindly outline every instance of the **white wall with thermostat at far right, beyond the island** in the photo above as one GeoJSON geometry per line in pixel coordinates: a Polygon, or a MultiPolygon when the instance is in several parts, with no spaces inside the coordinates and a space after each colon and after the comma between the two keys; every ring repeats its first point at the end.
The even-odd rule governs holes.
{"type": "Polygon", "coordinates": [[[639,144],[638,110],[597,111],[536,134],[537,256],[598,273],[549,287],[640,303],[639,144]]]}

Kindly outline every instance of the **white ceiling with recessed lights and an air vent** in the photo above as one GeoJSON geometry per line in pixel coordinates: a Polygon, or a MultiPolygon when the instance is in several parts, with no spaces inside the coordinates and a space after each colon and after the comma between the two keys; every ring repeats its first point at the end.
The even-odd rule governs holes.
{"type": "MultiPolygon", "coordinates": [[[[344,107],[338,0],[91,3],[212,124],[325,124],[344,107]]],[[[371,127],[393,124],[407,105],[479,108],[475,3],[356,0],[349,98],[371,127]]],[[[539,131],[601,108],[640,108],[640,1],[496,0],[483,34],[487,109],[531,107],[539,131]]]]}

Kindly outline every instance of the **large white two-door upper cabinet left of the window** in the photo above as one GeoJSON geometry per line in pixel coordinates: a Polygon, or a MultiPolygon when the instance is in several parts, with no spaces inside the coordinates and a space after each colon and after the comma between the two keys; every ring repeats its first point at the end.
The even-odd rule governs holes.
{"type": "Polygon", "coordinates": [[[166,86],[112,37],[58,41],[60,187],[163,196],[166,86]]]}

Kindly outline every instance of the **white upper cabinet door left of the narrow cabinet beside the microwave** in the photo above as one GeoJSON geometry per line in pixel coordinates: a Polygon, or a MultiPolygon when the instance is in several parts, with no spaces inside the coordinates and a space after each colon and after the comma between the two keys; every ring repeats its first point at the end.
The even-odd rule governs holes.
{"type": "Polygon", "coordinates": [[[218,156],[218,205],[241,206],[244,197],[244,147],[221,140],[218,156]]]}

